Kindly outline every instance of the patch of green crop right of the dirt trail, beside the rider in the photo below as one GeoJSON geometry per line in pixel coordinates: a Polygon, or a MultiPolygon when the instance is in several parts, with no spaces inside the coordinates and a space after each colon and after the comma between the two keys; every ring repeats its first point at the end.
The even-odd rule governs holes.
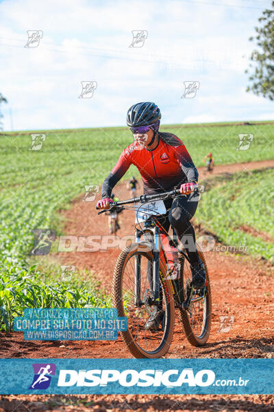
{"type": "Polygon", "coordinates": [[[206,184],[197,220],[221,242],[274,260],[274,169],[216,176],[206,184]]]}

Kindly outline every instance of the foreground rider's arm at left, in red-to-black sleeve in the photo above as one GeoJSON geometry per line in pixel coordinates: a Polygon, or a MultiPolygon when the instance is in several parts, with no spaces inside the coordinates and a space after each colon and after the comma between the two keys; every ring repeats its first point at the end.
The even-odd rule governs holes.
{"type": "Polygon", "coordinates": [[[123,177],[129,166],[132,164],[131,156],[125,155],[125,150],[123,150],[119,160],[116,165],[103,181],[102,185],[102,198],[110,198],[113,187],[117,182],[123,177]]]}

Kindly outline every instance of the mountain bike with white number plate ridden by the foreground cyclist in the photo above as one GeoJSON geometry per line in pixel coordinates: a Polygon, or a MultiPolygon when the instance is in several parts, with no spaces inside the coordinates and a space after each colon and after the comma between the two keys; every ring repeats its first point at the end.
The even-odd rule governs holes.
{"type": "Polygon", "coordinates": [[[132,207],[128,205],[135,204],[136,242],[123,249],[116,261],[112,301],[119,317],[127,317],[128,328],[120,333],[136,358],[160,358],[166,354],[173,338],[176,308],[191,345],[204,345],[210,335],[212,300],[203,253],[197,246],[206,268],[206,285],[196,290],[192,287],[188,255],[174,229],[170,237],[159,224],[160,218],[166,216],[164,200],[177,196],[184,195],[172,190],[111,205],[111,209],[129,209],[132,207]],[[155,305],[164,310],[164,317],[157,330],[147,330],[145,323],[155,305]]]}

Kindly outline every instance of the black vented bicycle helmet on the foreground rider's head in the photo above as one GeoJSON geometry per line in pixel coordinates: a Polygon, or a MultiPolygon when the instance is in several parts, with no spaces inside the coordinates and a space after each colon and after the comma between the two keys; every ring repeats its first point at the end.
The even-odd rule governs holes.
{"type": "Polygon", "coordinates": [[[152,102],[136,103],[127,111],[127,126],[139,127],[153,124],[162,117],[160,108],[152,102]]]}

